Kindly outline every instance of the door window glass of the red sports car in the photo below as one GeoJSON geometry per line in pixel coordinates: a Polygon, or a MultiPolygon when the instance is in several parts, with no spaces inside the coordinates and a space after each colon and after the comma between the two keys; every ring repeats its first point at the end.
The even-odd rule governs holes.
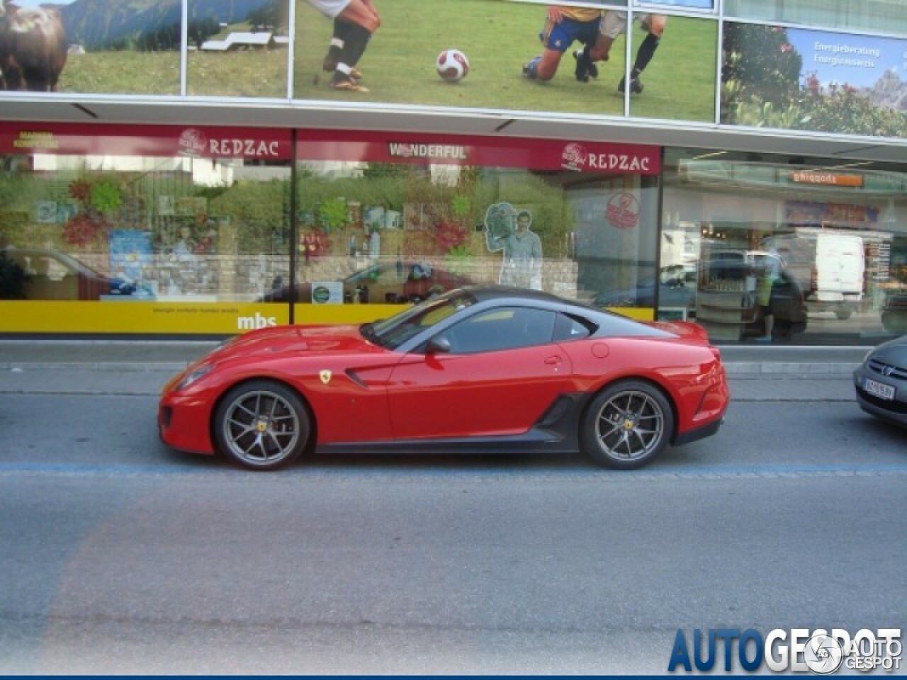
{"type": "Polygon", "coordinates": [[[542,309],[508,307],[480,312],[447,331],[455,354],[497,352],[551,342],[556,315],[542,309]]]}

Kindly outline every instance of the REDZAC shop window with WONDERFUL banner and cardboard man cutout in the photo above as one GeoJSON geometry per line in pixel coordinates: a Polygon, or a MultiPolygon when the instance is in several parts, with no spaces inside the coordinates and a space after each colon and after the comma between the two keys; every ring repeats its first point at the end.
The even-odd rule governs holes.
{"type": "Polygon", "coordinates": [[[654,148],[358,133],[299,156],[297,321],[471,283],[610,305],[651,273],[654,148]]]}

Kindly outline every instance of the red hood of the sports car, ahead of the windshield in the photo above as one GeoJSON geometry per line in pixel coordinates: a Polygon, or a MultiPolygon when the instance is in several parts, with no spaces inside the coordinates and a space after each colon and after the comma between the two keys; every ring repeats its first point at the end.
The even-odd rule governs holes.
{"type": "Polygon", "coordinates": [[[358,325],[288,325],[262,328],[240,335],[229,345],[210,355],[225,361],[275,354],[349,354],[380,352],[380,347],[366,342],[358,325]]]}

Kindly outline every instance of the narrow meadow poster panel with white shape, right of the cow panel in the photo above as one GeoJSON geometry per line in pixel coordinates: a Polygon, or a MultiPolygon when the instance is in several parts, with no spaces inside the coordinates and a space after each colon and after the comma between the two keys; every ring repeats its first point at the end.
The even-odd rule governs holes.
{"type": "Polygon", "coordinates": [[[288,0],[188,0],[187,94],[286,98],[288,0]]]}

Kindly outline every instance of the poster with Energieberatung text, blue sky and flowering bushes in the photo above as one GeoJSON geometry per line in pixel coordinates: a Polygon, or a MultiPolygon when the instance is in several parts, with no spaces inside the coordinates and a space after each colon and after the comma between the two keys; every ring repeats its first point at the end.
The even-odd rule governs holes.
{"type": "Polygon", "coordinates": [[[907,41],[725,24],[721,121],[903,138],[907,41]]]}

